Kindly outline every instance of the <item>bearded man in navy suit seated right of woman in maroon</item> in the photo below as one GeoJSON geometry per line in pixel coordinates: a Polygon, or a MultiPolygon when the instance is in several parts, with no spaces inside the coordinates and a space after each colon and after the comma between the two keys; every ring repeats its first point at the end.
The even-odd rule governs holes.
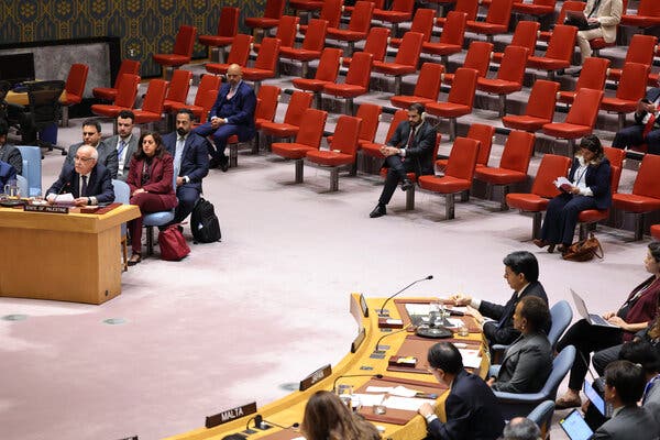
{"type": "Polygon", "coordinates": [[[174,157],[176,198],[178,205],[174,223],[180,223],[193,211],[201,193],[201,179],[209,174],[208,141],[191,132],[193,112],[182,109],[176,113],[176,132],[163,136],[163,145],[174,157]]]}

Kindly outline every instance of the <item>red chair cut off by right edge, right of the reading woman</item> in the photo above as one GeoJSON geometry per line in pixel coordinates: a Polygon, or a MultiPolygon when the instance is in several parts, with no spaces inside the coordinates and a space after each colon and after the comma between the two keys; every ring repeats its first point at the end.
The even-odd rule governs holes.
{"type": "Polygon", "coordinates": [[[660,156],[647,154],[641,160],[632,194],[615,194],[612,196],[613,206],[622,211],[635,215],[635,240],[644,238],[644,220],[648,212],[660,209],[660,156]]]}

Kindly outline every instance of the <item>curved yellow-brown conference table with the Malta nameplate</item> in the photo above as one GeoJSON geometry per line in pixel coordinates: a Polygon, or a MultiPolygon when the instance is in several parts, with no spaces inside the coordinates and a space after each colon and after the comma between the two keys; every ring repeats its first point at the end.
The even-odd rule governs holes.
{"type": "MultiPolygon", "coordinates": [[[[429,304],[438,298],[403,298],[388,302],[389,315],[394,319],[404,321],[404,329],[382,329],[378,328],[378,316],[375,312],[380,309],[385,298],[367,298],[364,304],[369,308],[369,316],[364,316],[361,308],[361,295],[351,294],[350,311],[355,318],[360,328],[359,333],[364,330],[364,339],[359,344],[354,353],[351,353],[353,344],[346,341],[349,354],[346,354],[337,365],[332,366],[330,376],[317,382],[306,391],[296,391],[279,400],[257,408],[264,420],[282,426],[272,427],[267,430],[257,430],[255,433],[248,436],[249,439],[267,439],[267,440],[290,440],[302,437],[302,433],[293,428],[294,424],[302,421],[305,406],[309,397],[321,389],[332,391],[333,384],[352,385],[354,393],[364,393],[367,385],[373,386],[397,386],[403,385],[408,389],[413,388],[418,392],[438,394],[435,403],[436,414],[441,420],[446,420],[444,399],[448,395],[447,386],[438,383],[438,381],[426,369],[426,352],[428,348],[439,341],[463,342],[469,349],[481,350],[481,364],[475,370],[475,374],[484,377],[488,371],[490,356],[487,350],[484,350],[484,338],[474,318],[465,316],[460,319],[468,324],[470,334],[468,337],[459,337],[453,334],[450,339],[425,339],[416,337],[410,330],[410,320],[406,312],[406,304],[429,304]],[[386,336],[383,338],[384,336],[386,336]],[[383,338],[381,340],[381,338],[383,338]],[[382,351],[385,351],[382,359],[373,356],[376,344],[382,351]],[[406,352],[414,353],[417,358],[417,367],[393,367],[389,364],[392,356],[397,353],[406,352]],[[361,377],[345,377],[348,375],[362,375],[361,377]],[[378,378],[376,375],[383,375],[378,378]],[[286,428],[288,427],[288,428],[286,428]]],[[[355,341],[358,341],[356,338],[355,341]]],[[[353,341],[353,342],[355,342],[353,341]]],[[[403,353],[402,353],[403,354],[403,353]]],[[[322,365],[319,365],[322,367],[322,365]]],[[[312,373],[312,372],[310,372],[312,373]]],[[[254,397],[245,396],[245,404],[253,402],[254,397]]],[[[224,408],[226,410],[231,408],[224,408]]],[[[392,440],[415,440],[424,439],[427,435],[426,420],[416,414],[416,411],[406,411],[399,409],[387,408],[385,415],[374,415],[373,407],[363,406],[360,410],[367,420],[372,421],[381,429],[384,439],[392,440]]],[[[246,415],[241,418],[228,421],[212,428],[199,428],[189,432],[169,437],[169,440],[202,440],[202,439],[222,439],[224,436],[232,433],[243,433],[249,420],[255,414],[246,415]]],[[[251,422],[251,427],[253,427],[251,422]]],[[[244,433],[243,433],[244,435],[244,433]]]]}

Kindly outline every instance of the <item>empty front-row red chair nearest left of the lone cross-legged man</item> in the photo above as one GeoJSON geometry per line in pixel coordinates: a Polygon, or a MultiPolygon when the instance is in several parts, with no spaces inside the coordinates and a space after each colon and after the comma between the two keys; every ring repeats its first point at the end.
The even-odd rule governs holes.
{"type": "Polygon", "coordinates": [[[339,168],[345,165],[354,167],[361,123],[359,118],[342,114],[337,121],[329,150],[307,152],[308,162],[330,167],[330,191],[339,190],[339,168]]]}

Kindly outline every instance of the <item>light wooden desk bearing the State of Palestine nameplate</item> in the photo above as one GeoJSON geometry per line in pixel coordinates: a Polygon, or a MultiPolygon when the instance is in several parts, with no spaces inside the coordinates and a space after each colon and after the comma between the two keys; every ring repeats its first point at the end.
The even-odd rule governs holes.
{"type": "Polygon", "coordinates": [[[105,215],[0,208],[0,296],[102,304],[121,293],[123,205],[105,215]]]}

